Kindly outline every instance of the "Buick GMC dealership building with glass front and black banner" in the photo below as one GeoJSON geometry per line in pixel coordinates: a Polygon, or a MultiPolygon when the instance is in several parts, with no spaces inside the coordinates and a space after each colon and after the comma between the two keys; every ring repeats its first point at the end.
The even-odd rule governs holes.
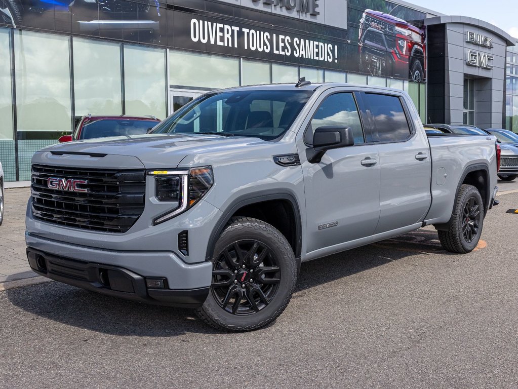
{"type": "Polygon", "coordinates": [[[405,90],[423,123],[518,132],[515,43],[399,0],[0,0],[0,162],[27,181],[83,115],[164,119],[300,77],[405,90]]]}

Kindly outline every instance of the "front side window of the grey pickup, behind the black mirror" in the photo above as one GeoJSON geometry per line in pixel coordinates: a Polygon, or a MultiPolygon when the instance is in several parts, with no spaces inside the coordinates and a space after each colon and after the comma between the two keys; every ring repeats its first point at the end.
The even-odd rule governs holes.
{"type": "Polygon", "coordinates": [[[362,122],[352,93],[335,93],[328,96],[311,119],[311,130],[323,126],[351,127],[354,143],[364,143],[362,122]]]}

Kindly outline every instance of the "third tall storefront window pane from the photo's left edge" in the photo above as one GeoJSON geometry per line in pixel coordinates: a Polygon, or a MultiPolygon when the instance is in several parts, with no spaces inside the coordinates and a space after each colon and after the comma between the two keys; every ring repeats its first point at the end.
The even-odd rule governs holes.
{"type": "Polygon", "coordinates": [[[74,38],[76,116],[122,113],[121,46],[74,38]]]}

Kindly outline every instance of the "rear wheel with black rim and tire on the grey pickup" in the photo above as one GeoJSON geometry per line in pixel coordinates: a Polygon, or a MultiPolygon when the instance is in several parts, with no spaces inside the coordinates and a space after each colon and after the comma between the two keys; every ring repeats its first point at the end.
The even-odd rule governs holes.
{"type": "Polygon", "coordinates": [[[473,185],[462,185],[457,194],[450,228],[438,231],[441,246],[452,253],[465,254],[477,247],[484,223],[484,205],[473,185]]]}

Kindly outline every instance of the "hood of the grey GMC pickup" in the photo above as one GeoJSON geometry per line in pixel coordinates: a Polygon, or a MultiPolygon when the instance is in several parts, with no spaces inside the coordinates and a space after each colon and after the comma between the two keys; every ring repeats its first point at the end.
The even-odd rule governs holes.
{"type": "Polygon", "coordinates": [[[250,146],[268,146],[271,142],[252,137],[221,135],[143,134],[95,138],[60,143],[42,152],[71,154],[129,155],[148,169],[175,168],[190,154],[242,150],[250,146]]]}

